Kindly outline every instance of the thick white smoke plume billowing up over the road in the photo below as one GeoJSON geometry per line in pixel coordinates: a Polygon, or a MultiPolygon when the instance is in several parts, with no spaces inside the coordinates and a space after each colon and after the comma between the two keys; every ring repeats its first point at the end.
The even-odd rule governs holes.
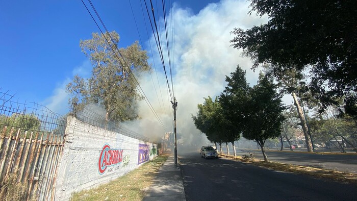
{"type": "MultiPolygon", "coordinates": [[[[195,128],[191,114],[196,115],[197,104],[203,103],[203,97],[215,98],[223,91],[226,86],[225,76],[230,76],[237,65],[246,69],[246,78],[250,85],[257,83],[258,71],[253,72],[250,69],[252,66],[250,59],[242,57],[241,51],[230,46],[230,40],[234,38],[230,32],[234,28],[248,29],[267,21],[266,17],[249,15],[248,6],[249,3],[246,1],[224,0],[217,4],[209,4],[196,15],[189,10],[177,8],[175,5],[174,9],[171,9],[170,15],[174,15],[172,17],[174,25],[168,24],[168,30],[170,30],[169,34],[174,33],[174,43],[173,45],[170,43],[170,49],[174,48],[174,51],[170,53],[173,55],[171,61],[174,64],[172,66],[174,95],[178,102],[177,138],[184,138],[184,143],[201,146],[200,143],[207,141],[205,135],[195,128]]],[[[161,19],[160,23],[163,23],[162,21],[161,19]]],[[[161,33],[165,33],[164,28],[161,33]]],[[[162,35],[161,39],[165,39],[165,35],[162,35]]],[[[150,43],[156,45],[153,36],[150,43]]],[[[150,75],[141,77],[140,85],[165,128],[162,128],[148,105],[141,101],[139,104],[140,119],[131,124],[131,129],[143,133],[150,139],[160,139],[165,132],[172,132],[172,107],[157,48],[156,46],[151,48],[155,50],[153,59],[156,63],[162,96],[155,72],[152,73],[152,78],[154,78],[156,90],[150,75]],[[164,103],[161,101],[162,97],[164,103]]],[[[163,51],[167,56],[166,46],[163,47],[163,51]]],[[[165,67],[171,87],[167,59],[165,67]]]]}

